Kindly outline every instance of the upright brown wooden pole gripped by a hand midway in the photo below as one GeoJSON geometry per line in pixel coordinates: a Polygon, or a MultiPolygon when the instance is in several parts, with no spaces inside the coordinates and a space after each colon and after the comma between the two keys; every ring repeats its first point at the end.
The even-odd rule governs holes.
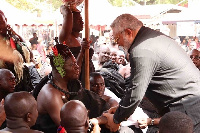
{"type": "MultiPolygon", "coordinates": [[[[85,0],[85,39],[89,40],[89,0],[85,0]]],[[[85,50],[85,88],[90,90],[89,81],[89,49],[85,50]]]]}

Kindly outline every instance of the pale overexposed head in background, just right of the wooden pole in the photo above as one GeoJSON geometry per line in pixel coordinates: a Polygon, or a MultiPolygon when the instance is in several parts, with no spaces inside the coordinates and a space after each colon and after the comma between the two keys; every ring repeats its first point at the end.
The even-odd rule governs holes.
{"type": "Polygon", "coordinates": [[[110,59],[110,49],[108,45],[101,44],[99,48],[99,64],[103,65],[110,59]]]}

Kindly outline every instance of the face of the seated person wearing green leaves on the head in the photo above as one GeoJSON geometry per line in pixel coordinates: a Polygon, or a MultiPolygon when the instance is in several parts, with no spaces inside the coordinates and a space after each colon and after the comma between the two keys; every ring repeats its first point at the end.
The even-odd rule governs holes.
{"type": "Polygon", "coordinates": [[[65,61],[64,69],[66,71],[66,76],[69,79],[78,79],[79,78],[79,66],[76,63],[74,56],[69,57],[65,61]]]}

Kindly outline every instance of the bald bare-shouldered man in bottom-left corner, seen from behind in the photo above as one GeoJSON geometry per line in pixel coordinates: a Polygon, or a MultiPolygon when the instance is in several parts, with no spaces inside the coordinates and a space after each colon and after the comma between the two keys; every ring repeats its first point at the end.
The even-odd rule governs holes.
{"type": "Polygon", "coordinates": [[[5,98],[4,108],[7,127],[1,131],[9,131],[11,133],[42,133],[30,129],[36,122],[38,111],[36,100],[28,92],[21,91],[8,94],[5,98]]]}

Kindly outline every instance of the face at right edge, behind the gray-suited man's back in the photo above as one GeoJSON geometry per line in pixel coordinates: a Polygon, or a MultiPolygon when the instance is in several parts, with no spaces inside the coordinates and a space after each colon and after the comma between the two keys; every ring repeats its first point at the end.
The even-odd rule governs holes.
{"type": "Polygon", "coordinates": [[[195,64],[195,66],[198,69],[200,69],[200,51],[198,51],[197,49],[193,49],[190,52],[190,58],[192,59],[192,61],[195,64]]]}

